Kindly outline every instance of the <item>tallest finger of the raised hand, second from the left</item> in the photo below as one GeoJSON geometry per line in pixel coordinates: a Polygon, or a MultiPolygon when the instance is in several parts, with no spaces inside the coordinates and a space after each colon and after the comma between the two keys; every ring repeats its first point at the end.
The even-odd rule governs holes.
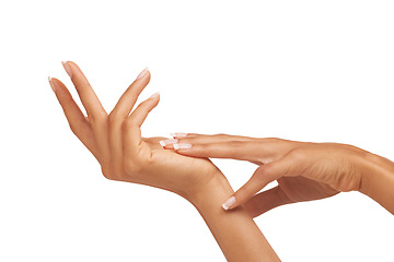
{"type": "Polygon", "coordinates": [[[96,120],[103,120],[104,117],[106,118],[106,111],[104,107],[100,103],[96,94],[82,73],[81,69],[71,61],[62,62],[62,64],[77,88],[82,105],[86,109],[89,119],[92,122],[95,122],[96,120]]]}

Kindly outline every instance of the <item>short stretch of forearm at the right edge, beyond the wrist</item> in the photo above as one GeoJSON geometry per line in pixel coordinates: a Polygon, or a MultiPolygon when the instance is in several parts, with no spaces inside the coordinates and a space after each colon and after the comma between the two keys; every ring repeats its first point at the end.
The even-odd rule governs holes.
{"type": "Polygon", "coordinates": [[[366,157],[364,170],[360,192],[394,215],[394,163],[371,154],[366,157]]]}

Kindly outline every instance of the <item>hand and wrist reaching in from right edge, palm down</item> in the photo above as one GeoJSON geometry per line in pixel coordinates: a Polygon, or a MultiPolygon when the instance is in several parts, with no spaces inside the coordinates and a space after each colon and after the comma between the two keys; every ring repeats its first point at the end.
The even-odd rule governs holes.
{"type": "Polygon", "coordinates": [[[352,145],[239,135],[175,134],[164,148],[193,157],[248,160],[259,167],[223,209],[243,205],[251,216],[274,207],[359,191],[394,214],[394,163],[352,145]],[[258,193],[269,182],[278,186],[258,193]]]}

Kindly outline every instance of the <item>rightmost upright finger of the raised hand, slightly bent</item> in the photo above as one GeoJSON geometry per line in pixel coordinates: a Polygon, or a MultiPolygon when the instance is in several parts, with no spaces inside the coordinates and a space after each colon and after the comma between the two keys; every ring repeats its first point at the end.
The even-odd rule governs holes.
{"type": "Polygon", "coordinates": [[[141,126],[149,112],[158,106],[159,93],[142,102],[124,122],[124,142],[127,153],[134,153],[141,143],[141,126]]]}

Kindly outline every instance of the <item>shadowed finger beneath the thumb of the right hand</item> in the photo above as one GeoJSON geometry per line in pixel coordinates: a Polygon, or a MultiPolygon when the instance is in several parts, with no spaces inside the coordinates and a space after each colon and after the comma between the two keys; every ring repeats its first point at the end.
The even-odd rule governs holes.
{"type": "Polygon", "coordinates": [[[277,206],[292,203],[282,189],[277,186],[254,195],[243,206],[252,217],[259,216],[277,206]]]}

